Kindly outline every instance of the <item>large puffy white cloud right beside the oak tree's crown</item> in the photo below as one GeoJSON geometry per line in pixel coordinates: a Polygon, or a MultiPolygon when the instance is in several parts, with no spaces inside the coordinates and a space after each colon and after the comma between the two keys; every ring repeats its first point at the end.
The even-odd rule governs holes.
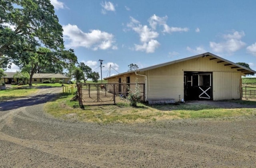
{"type": "Polygon", "coordinates": [[[114,35],[100,30],[91,30],[84,33],[76,25],[63,26],[64,39],[68,47],[86,47],[93,50],[117,49],[114,45],[114,35]]]}

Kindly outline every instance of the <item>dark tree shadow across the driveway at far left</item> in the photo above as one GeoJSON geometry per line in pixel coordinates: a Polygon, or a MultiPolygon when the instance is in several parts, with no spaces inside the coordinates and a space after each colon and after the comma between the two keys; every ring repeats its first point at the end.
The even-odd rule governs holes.
{"type": "Polygon", "coordinates": [[[61,95],[62,93],[57,94],[40,94],[36,96],[30,96],[27,98],[19,98],[16,100],[11,100],[8,102],[0,103],[0,111],[8,111],[12,109],[17,109],[20,107],[26,107],[30,105],[38,105],[46,102],[50,102],[54,97],[61,95]]]}

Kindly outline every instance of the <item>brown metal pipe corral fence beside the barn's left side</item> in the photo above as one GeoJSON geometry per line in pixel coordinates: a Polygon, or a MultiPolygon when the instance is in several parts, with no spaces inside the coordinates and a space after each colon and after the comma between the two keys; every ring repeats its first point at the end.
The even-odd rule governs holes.
{"type": "MultiPolygon", "coordinates": [[[[107,105],[126,102],[128,91],[135,83],[86,84],[78,83],[79,105],[107,105]]],[[[139,83],[141,101],[145,101],[145,84],[139,83]]]]}

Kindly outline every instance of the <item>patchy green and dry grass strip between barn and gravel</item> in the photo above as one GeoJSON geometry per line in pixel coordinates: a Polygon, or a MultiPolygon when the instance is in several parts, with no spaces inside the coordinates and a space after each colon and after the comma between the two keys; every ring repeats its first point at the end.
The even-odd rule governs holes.
{"type": "MultiPolygon", "coordinates": [[[[120,103],[117,105],[86,106],[81,109],[78,102],[70,101],[73,96],[62,94],[55,101],[48,102],[44,106],[44,110],[62,119],[96,123],[134,123],[188,118],[221,119],[234,116],[256,116],[256,109],[253,108],[223,109],[210,105],[195,104],[138,104],[138,107],[131,107],[127,103],[120,103]]],[[[240,101],[239,103],[250,104],[251,102],[240,101]]]]}

